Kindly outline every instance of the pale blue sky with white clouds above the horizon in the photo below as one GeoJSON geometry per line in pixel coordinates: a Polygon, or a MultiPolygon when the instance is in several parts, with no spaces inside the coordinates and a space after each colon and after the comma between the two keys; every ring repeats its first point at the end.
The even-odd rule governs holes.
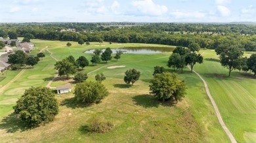
{"type": "Polygon", "coordinates": [[[256,0],[0,0],[0,22],[256,22],[256,0]]]}

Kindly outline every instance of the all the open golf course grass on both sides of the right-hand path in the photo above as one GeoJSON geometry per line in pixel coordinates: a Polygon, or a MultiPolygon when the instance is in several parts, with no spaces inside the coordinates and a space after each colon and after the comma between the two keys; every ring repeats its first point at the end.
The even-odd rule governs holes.
{"type": "MultiPolygon", "coordinates": [[[[83,53],[85,50],[95,48],[98,43],[81,46],[72,42],[67,47],[66,42],[33,40],[37,49],[48,46],[49,52],[56,59],[63,59],[70,55],[75,59],[85,56],[91,59],[92,54],[83,53]]],[[[108,44],[104,48],[121,48],[123,46],[148,46],[148,44],[108,44]]],[[[163,46],[152,45],[150,46],[163,46]]],[[[230,142],[224,133],[213,106],[205,93],[202,81],[189,69],[180,71],[179,78],[187,84],[187,95],[184,100],[175,105],[161,104],[152,95],[149,95],[149,81],[156,65],[167,68],[167,60],[171,53],[162,54],[123,54],[121,59],[112,59],[108,63],[90,65],[81,72],[89,73],[87,80],[95,80],[95,75],[103,73],[106,80],[102,83],[107,87],[110,95],[100,104],[93,104],[80,108],[72,103],[72,93],[56,95],[60,103],[60,112],[53,122],[32,130],[18,132],[24,129],[18,119],[13,118],[12,106],[16,99],[22,95],[28,86],[46,86],[54,76],[54,63],[56,61],[45,50],[46,57],[35,65],[34,69],[26,69],[18,80],[13,82],[4,93],[0,95],[1,135],[5,142],[230,142]],[[124,72],[127,69],[137,69],[141,72],[140,80],[135,86],[127,86],[123,82],[124,72]],[[28,86],[25,86],[28,85],[28,86]],[[114,129],[106,134],[87,135],[81,127],[94,116],[100,116],[114,123],[114,129]],[[10,122],[12,121],[12,122],[10,122]],[[7,133],[12,126],[16,131],[7,133]],[[171,135],[171,136],[170,136],[171,135]],[[22,139],[21,139],[22,136],[22,139]],[[30,136],[35,136],[30,138],[30,136]]],[[[244,74],[232,72],[230,78],[226,77],[226,69],[219,65],[214,51],[202,50],[205,61],[196,65],[195,70],[205,78],[210,92],[217,103],[221,116],[236,140],[240,142],[253,140],[256,129],[255,122],[255,89],[251,83],[255,79],[247,79],[244,74]],[[214,60],[216,59],[216,60],[214,60]],[[209,68],[211,67],[211,69],[209,68]],[[215,70],[212,70],[216,68],[215,70]],[[221,70],[220,70],[221,69],[221,70]],[[247,97],[247,98],[242,98],[247,97]],[[244,118],[238,118],[244,116],[244,118]],[[251,120],[250,120],[251,119],[251,120]],[[244,123],[247,121],[246,123],[244,123]]],[[[12,71],[7,71],[8,73],[12,71]]],[[[7,83],[6,80],[2,81],[7,83]]],[[[2,83],[0,82],[0,83],[2,83]]],[[[60,86],[72,80],[54,80],[51,87],[60,86]]],[[[256,84],[256,83],[255,83],[256,84]]],[[[253,84],[253,85],[255,85],[253,84]]],[[[72,83],[72,87],[75,84],[72,83]]],[[[74,88],[73,88],[74,89],[74,88]]],[[[249,142],[248,141],[248,142],[249,142]]]]}

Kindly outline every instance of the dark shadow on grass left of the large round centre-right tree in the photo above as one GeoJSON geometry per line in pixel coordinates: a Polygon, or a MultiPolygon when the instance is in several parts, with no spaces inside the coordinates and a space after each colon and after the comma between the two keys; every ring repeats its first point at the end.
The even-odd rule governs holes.
{"type": "Polygon", "coordinates": [[[151,95],[137,95],[133,97],[133,101],[135,104],[143,106],[144,108],[158,108],[159,106],[158,100],[151,95]]]}

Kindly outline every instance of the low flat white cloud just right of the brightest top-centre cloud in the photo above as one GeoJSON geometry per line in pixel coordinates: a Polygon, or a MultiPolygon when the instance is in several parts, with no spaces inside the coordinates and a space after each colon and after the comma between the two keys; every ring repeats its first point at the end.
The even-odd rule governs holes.
{"type": "Polygon", "coordinates": [[[172,16],[174,16],[175,19],[184,19],[184,18],[189,18],[189,19],[197,18],[197,19],[200,19],[200,18],[205,17],[205,13],[198,12],[198,11],[173,10],[170,14],[172,16]]]}

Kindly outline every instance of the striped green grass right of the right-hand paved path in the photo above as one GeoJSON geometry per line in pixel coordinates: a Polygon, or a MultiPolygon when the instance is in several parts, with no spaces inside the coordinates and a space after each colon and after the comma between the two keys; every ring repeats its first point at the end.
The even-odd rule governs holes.
{"type": "Polygon", "coordinates": [[[239,71],[228,77],[213,50],[200,52],[205,60],[195,70],[206,80],[224,122],[238,142],[256,142],[256,78],[239,71]]]}

